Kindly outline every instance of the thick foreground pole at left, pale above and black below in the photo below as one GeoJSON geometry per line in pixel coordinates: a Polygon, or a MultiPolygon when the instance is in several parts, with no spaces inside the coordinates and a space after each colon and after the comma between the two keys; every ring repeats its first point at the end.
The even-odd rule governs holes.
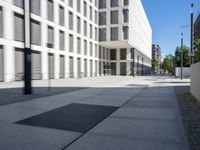
{"type": "Polygon", "coordinates": [[[32,94],[30,0],[24,0],[24,94],[32,94]]]}

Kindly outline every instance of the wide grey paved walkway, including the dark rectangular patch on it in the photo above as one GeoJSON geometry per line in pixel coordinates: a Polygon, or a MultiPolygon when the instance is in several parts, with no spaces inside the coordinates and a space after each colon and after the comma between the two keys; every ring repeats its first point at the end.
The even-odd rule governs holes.
{"type": "Polygon", "coordinates": [[[0,149],[189,150],[173,88],[160,80],[118,80],[1,106],[0,149]]]}

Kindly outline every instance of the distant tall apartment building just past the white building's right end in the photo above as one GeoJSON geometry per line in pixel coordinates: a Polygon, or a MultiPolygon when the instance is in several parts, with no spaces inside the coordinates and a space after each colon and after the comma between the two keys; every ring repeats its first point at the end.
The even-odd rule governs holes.
{"type": "Polygon", "coordinates": [[[160,73],[160,65],[162,63],[162,54],[161,54],[161,48],[158,44],[153,44],[152,45],[152,59],[155,59],[157,64],[155,66],[154,72],[156,74],[160,73]]]}

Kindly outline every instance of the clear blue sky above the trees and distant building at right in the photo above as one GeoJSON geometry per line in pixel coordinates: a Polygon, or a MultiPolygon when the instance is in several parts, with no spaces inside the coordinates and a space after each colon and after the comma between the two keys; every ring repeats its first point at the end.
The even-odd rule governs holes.
{"type": "Polygon", "coordinates": [[[184,43],[190,45],[190,5],[194,3],[194,12],[200,10],[200,0],[142,0],[149,18],[153,43],[159,44],[162,52],[173,54],[180,45],[181,32],[184,33],[184,43]]]}

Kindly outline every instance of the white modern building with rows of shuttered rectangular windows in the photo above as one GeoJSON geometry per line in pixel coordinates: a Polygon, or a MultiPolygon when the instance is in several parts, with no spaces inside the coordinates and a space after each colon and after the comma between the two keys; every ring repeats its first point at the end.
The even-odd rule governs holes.
{"type": "MultiPolygon", "coordinates": [[[[140,0],[31,0],[32,79],[148,73],[140,0]]],[[[0,0],[0,81],[23,80],[23,0],[0,0]]]]}

